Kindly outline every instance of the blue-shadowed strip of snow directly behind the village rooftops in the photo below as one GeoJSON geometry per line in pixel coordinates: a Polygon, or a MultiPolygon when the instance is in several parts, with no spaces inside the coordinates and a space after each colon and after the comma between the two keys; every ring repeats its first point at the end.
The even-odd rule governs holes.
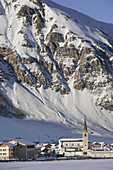
{"type": "MultiPolygon", "coordinates": [[[[0,141],[8,140],[16,137],[22,137],[29,141],[39,142],[57,142],[62,137],[82,137],[81,133],[77,133],[75,128],[69,129],[63,124],[36,121],[36,120],[17,120],[9,118],[0,118],[0,141]]],[[[105,135],[97,136],[89,134],[89,141],[104,141],[106,143],[113,143],[112,137],[105,135]]]]}

